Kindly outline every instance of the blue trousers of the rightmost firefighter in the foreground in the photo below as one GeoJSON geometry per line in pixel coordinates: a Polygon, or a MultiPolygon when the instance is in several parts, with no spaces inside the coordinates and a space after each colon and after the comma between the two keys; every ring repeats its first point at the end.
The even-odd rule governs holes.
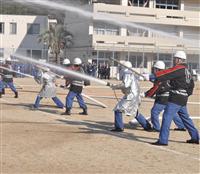
{"type": "Polygon", "coordinates": [[[176,113],[178,113],[180,116],[184,126],[191,136],[191,139],[199,141],[199,132],[195,128],[192,119],[189,117],[186,106],[180,106],[169,102],[163,114],[163,120],[158,140],[159,143],[168,144],[171,121],[176,113]]]}

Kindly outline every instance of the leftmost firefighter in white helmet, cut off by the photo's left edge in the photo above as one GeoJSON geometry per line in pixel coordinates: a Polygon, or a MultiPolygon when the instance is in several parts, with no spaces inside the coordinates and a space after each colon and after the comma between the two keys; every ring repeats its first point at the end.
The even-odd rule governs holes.
{"type": "Polygon", "coordinates": [[[18,98],[18,92],[17,89],[15,88],[15,85],[13,83],[13,72],[12,72],[12,67],[11,67],[11,58],[6,59],[6,63],[4,65],[5,68],[10,69],[2,69],[2,80],[0,84],[0,97],[2,94],[5,92],[5,87],[9,87],[15,94],[14,98],[18,98]]]}

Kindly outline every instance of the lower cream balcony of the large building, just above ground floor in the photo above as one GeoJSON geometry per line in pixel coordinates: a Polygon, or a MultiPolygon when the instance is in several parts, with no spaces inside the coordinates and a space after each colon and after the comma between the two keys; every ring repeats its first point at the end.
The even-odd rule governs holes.
{"type": "Polygon", "coordinates": [[[191,43],[181,43],[180,40],[169,37],[141,37],[141,36],[113,36],[113,35],[93,35],[92,47],[98,50],[109,51],[137,51],[156,52],[159,47],[161,51],[169,53],[172,48],[187,49],[193,53],[199,53],[198,45],[191,43]]]}

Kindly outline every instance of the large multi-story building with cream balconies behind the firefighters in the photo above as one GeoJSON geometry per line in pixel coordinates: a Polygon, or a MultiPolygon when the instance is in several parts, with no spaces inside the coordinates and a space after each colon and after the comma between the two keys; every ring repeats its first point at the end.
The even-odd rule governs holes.
{"type": "Polygon", "coordinates": [[[98,63],[114,57],[150,72],[156,60],[170,67],[173,53],[185,50],[190,68],[199,69],[199,0],[93,0],[84,10],[94,15],[66,14],[67,29],[74,36],[68,57],[98,63]]]}

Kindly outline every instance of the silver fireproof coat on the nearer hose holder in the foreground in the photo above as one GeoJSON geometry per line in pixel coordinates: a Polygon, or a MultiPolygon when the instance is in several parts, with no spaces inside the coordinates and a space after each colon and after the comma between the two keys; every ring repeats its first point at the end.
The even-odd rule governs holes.
{"type": "Polygon", "coordinates": [[[140,87],[138,79],[128,69],[125,69],[122,75],[122,83],[114,85],[115,89],[121,89],[124,96],[120,99],[114,108],[114,111],[120,111],[127,116],[135,116],[140,104],[140,87]]]}

